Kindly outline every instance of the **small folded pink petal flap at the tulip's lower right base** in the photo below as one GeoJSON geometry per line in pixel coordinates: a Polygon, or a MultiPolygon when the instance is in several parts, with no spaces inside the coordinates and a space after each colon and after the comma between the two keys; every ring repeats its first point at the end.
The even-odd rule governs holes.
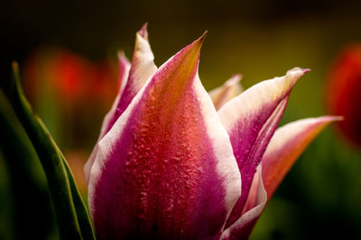
{"type": "Polygon", "coordinates": [[[261,216],[267,202],[267,193],[264,190],[264,184],[261,181],[261,167],[257,167],[254,181],[248,200],[245,204],[244,213],[230,227],[228,227],[220,237],[226,239],[248,239],[251,235],[255,223],[261,216]]]}

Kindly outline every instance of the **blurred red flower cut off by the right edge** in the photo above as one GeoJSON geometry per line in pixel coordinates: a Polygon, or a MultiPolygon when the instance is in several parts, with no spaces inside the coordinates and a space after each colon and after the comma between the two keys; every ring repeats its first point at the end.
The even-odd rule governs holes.
{"type": "Polygon", "coordinates": [[[341,50],[329,70],[326,103],[330,114],[340,115],[338,129],[361,147],[361,45],[341,50]]]}

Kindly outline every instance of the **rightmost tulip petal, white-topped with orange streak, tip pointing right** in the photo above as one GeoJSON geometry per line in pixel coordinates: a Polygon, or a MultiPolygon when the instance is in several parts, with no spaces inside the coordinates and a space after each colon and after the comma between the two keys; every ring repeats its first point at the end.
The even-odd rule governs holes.
{"type": "Polygon", "coordinates": [[[242,217],[225,230],[222,239],[247,239],[250,236],[266,202],[270,200],[294,161],[310,144],[310,141],[333,120],[340,120],[340,118],[326,116],[298,120],[275,131],[264,153],[262,164],[257,167],[242,217]]]}

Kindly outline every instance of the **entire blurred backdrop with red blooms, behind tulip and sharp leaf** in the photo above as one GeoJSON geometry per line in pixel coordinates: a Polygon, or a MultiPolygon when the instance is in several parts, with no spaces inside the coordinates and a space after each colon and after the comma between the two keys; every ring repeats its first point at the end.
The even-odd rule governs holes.
{"type": "Polygon", "coordinates": [[[323,114],[350,122],[308,147],[251,239],[361,239],[361,54],[352,47],[361,44],[360,13],[351,0],[1,1],[0,239],[59,238],[41,166],[6,101],[11,62],[86,199],[82,165],[116,96],[116,53],[132,57],[144,22],[158,67],[208,30],[199,66],[207,90],[235,73],[247,88],[309,67],[281,125],[323,114]]]}

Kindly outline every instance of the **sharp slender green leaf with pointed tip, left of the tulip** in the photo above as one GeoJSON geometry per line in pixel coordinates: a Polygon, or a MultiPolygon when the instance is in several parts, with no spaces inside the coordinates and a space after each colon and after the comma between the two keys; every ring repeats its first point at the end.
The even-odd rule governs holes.
{"type": "Polygon", "coordinates": [[[81,199],[69,165],[23,94],[17,63],[13,63],[13,82],[11,102],[42,163],[58,221],[60,238],[95,239],[88,210],[81,199]]]}

